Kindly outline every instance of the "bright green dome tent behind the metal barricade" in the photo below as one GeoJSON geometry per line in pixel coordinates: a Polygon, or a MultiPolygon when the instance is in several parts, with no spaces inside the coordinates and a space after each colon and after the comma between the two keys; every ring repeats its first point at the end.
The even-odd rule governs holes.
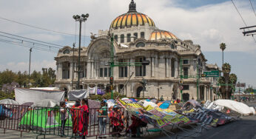
{"type": "MultiPolygon", "coordinates": [[[[49,131],[50,129],[59,129],[61,128],[60,111],[58,108],[30,110],[23,116],[23,118],[21,118],[19,126],[29,126],[33,130],[42,132],[49,131]]],[[[65,126],[72,127],[70,114],[65,126]]]]}

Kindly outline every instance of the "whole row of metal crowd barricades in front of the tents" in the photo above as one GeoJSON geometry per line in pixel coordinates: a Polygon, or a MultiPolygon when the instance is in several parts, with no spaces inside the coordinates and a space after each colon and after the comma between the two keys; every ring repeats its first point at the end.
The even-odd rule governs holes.
{"type": "Polygon", "coordinates": [[[30,107],[0,104],[0,129],[22,132],[33,131],[39,135],[58,135],[78,138],[119,136],[129,126],[129,116],[124,108],[73,109],[61,107],[30,107]],[[99,111],[105,110],[105,115],[99,111]]]}

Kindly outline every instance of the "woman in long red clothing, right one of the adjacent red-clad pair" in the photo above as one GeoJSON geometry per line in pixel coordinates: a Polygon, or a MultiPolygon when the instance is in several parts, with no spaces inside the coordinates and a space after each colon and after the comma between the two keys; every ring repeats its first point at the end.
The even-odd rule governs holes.
{"type": "Polygon", "coordinates": [[[88,99],[83,98],[81,104],[81,115],[78,123],[78,130],[80,135],[83,136],[83,139],[85,139],[86,135],[88,134],[87,128],[89,122],[88,99]]]}

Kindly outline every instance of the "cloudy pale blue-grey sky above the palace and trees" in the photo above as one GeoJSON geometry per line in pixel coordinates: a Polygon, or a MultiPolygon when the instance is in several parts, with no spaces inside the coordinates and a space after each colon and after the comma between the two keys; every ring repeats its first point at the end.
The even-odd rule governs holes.
{"type": "MultiPolygon", "coordinates": [[[[256,16],[249,0],[233,0],[248,26],[255,25],[256,16]]],[[[251,0],[256,10],[256,0],[251,0]]],[[[108,30],[113,19],[127,13],[130,0],[0,0],[0,32],[21,35],[61,46],[78,44],[78,37],[63,33],[78,34],[78,23],[73,15],[89,13],[82,26],[83,46],[90,44],[90,33],[108,30]],[[11,21],[30,24],[54,33],[38,30],[11,21]]],[[[256,87],[256,42],[252,36],[243,36],[240,27],[245,27],[232,1],[228,0],[135,0],[137,11],[155,21],[156,27],[175,34],[182,40],[190,39],[199,44],[209,64],[222,64],[219,44],[224,42],[224,62],[231,64],[231,72],[238,81],[256,87]]],[[[7,44],[0,33],[0,71],[28,71],[30,48],[7,44]]],[[[255,36],[256,39],[256,36],[255,36]]],[[[8,38],[10,41],[10,38],[8,38]]],[[[18,41],[21,43],[21,41],[18,41]]],[[[33,45],[33,44],[30,44],[33,45]]],[[[78,45],[76,45],[78,46],[78,45]]],[[[50,50],[50,48],[47,48],[50,50]]],[[[51,52],[32,50],[31,70],[55,66],[51,52]]]]}

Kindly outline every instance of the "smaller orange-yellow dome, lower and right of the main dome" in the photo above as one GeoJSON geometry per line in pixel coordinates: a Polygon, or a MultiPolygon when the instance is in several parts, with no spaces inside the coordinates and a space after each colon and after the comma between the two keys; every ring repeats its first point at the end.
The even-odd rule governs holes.
{"type": "Polygon", "coordinates": [[[156,40],[160,40],[160,39],[163,39],[163,38],[177,39],[177,37],[175,35],[173,35],[172,33],[169,33],[168,31],[154,30],[151,33],[149,40],[156,41],[156,40]]]}

